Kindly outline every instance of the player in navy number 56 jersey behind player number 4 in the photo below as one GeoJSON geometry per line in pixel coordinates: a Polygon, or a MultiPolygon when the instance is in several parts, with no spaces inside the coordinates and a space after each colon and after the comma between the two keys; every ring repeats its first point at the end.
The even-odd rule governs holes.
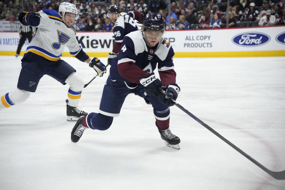
{"type": "Polygon", "coordinates": [[[142,27],[142,18],[140,12],[131,11],[127,14],[121,12],[117,5],[109,7],[107,15],[112,23],[114,23],[113,33],[115,36],[115,45],[112,53],[108,54],[108,64],[112,65],[113,58],[117,57],[120,51],[124,36],[132,31],[140,30],[142,27]]]}

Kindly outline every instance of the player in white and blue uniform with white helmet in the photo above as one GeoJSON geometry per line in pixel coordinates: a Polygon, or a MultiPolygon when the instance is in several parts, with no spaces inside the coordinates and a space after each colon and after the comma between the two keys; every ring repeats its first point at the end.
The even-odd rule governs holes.
{"type": "Polygon", "coordinates": [[[53,77],[61,84],[69,85],[66,99],[67,121],[77,121],[87,115],[78,109],[83,79],[76,70],[60,58],[64,47],[80,61],[87,63],[102,76],[106,72],[105,65],[98,58],[89,58],[76,40],[76,32],[72,27],[78,14],[74,4],[63,2],[59,6],[59,14],[55,10],[43,9],[38,13],[21,12],[19,21],[24,26],[38,27],[31,43],[22,58],[22,69],[17,88],[1,97],[0,110],[26,101],[31,92],[35,92],[43,75],[53,77]]]}

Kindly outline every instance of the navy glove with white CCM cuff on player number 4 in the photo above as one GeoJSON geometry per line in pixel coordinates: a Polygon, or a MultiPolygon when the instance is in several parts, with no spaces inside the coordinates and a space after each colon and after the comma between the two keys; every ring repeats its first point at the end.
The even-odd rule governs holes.
{"type": "Polygon", "coordinates": [[[145,93],[148,96],[159,96],[159,88],[162,87],[162,83],[156,78],[153,72],[149,75],[140,77],[140,83],[143,85],[145,93]]]}

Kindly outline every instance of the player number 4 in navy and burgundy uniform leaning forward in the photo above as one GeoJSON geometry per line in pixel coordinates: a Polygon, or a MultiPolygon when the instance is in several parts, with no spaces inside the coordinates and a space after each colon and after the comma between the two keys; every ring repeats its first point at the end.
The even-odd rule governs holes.
{"type": "Polygon", "coordinates": [[[174,51],[162,37],[165,26],[159,13],[148,13],[142,30],[124,37],[121,50],[110,67],[110,75],[105,83],[98,113],[89,113],[78,119],[72,129],[71,140],[76,143],[85,129],[107,130],[113,117],[119,116],[128,94],[148,100],[152,107],[156,126],[167,146],[180,149],[179,137],[169,129],[170,106],[176,100],[180,88],[176,84],[174,71],[174,51]],[[154,75],[158,63],[159,78],[154,75]],[[162,95],[159,89],[164,89],[162,95]]]}

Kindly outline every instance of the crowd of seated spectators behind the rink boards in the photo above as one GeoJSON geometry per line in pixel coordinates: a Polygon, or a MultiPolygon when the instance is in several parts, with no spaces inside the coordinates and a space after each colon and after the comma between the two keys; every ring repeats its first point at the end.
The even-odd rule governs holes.
{"type": "MultiPolygon", "coordinates": [[[[22,11],[33,11],[33,0],[0,2],[0,20],[17,20],[22,11]]],[[[36,11],[53,9],[58,12],[61,2],[76,5],[77,31],[112,31],[113,23],[107,10],[116,0],[36,0],[36,11]]],[[[285,24],[285,0],[230,0],[228,27],[273,26],[285,24]]],[[[148,12],[159,12],[167,30],[207,29],[226,27],[227,0],[128,0],[119,1],[121,12],[139,11],[142,21],[148,12]],[[170,15],[170,16],[168,16],[170,15]]]]}

